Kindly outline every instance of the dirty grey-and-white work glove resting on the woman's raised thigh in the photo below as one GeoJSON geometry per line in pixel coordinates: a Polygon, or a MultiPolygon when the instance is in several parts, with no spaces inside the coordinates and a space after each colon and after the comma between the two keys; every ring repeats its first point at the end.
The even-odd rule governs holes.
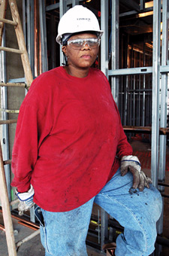
{"type": "Polygon", "coordinates": [[[149,183],[152,183],[151,178],[147,177],[143,171],[141,171],[140,161],[135,156],[125,156],[121,159],[121,175],[124,176],[128,171],[133,175],[134,189],[143,191],[144,187],[149,188],[149,183]]]}

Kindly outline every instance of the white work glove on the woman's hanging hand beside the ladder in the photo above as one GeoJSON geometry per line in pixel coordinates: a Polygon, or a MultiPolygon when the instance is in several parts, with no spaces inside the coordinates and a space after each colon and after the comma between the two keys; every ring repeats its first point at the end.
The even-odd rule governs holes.
{"type": "Polygon", "coordinates": [[[34,188],[31,184],[31,188],[28,192],[20,193],[16,190],[16,194],[20,200],[20,203],[18,204],[19,215],[23,215],[23,211],[27,211],[35,204],[33,202],[34,188]]]}

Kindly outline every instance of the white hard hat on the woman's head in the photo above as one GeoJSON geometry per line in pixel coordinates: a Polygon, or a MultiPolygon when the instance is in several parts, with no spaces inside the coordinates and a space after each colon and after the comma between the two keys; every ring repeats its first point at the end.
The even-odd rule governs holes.
{"type": "Polygon", "coordinates": [[[95,14],[82,5],[75,5],[60,19],[56,42],[62,44],[62,36],[64,34],[73,34],[85,31],[96,32],[99,37],[103,34],[103,31],[100,30],[98,19],[95,17],[95,14]]]}

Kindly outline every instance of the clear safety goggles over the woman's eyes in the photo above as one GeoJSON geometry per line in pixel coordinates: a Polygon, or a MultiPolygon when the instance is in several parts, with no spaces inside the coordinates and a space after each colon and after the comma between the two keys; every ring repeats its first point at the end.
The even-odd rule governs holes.
{"type": "Polygon", "coordinates": [[[75,50],[80,50],[81,47],[84,47],[86,44],[88,44],[89,47],[93,49],[100,45],[100,41],[100,38],[77,38],[73,40],[68,40],[68,45],[75,50]]]}

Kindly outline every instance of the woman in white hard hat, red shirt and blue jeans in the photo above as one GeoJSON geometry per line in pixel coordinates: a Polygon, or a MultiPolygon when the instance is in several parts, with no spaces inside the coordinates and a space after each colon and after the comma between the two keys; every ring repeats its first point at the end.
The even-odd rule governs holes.
{"type": "Polygon", "coordinates": [[[154,250],[161,196],[132,156],[107,78],[91,68],[102,33],[91,11],[71,8],[56,38],[66,66],[36,78],[20,108],[12,185],[20,212],[38,205],[46,256],[87,255],[94,202],[125,227],[117,256],[154,250]]]}

